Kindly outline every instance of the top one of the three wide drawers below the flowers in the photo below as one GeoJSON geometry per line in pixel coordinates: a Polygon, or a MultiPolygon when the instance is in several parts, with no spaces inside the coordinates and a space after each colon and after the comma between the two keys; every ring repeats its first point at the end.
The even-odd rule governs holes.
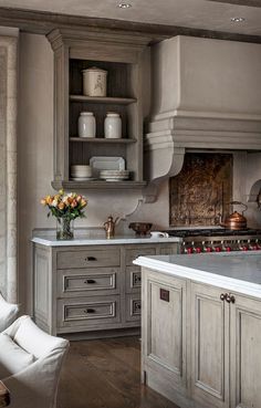
{"type": "Polygon", "coordinates": [[[87,249],[58,253],[58,269],[119,266],[119,249],[87,249]]]}

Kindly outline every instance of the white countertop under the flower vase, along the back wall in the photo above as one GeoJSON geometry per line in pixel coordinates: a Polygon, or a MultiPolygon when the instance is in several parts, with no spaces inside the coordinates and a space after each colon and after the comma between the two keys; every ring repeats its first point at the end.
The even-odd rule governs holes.
{"type": "Polygon", "coordinates": [[[128,244],[128,243],[170,243],[170,242],[181,242],[180,238],[177,237],[159,237],[159,238],[150,238],[147,237],[114,237],[111,239],[102,238],[102,237],[81,237],[72,240],[56,240],[55,237],[33,237],[32,242],[40,243],[45,247],[77,247],[77,245],[115,245],[115,244],[128,244]]]}

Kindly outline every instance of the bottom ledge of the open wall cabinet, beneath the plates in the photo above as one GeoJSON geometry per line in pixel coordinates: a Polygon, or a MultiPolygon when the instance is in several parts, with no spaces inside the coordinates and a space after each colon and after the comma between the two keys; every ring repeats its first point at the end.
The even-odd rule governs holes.
{"type": "Polygon", "coordinates": [[[52,187],[54,189],[87,189],[87,190],[125,190],[125,189],[142,189],[147,185],[146,181],[73,181],[73,180],[62,180],[52,181],[52,187]]]}

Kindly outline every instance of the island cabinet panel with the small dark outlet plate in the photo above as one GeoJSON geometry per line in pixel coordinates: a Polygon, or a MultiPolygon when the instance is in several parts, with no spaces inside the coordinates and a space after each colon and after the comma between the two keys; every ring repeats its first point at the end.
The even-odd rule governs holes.
{"type": "Polygon", "coordinates": [[[143,282],[143,368],[147,384],[186,388],[186,282],[146,271],[143,282]],[[156,374],[155,374],[156,373],[156,374]]]}

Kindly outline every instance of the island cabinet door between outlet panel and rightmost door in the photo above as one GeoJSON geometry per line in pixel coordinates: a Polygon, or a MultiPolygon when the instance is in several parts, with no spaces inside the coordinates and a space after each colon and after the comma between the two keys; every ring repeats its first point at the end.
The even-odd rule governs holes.
{"type": "Polygon", "coordinates": [[[222,290],[191,285],[191,394],[203,407],[229,406],[229,304],[222,290]]]}

